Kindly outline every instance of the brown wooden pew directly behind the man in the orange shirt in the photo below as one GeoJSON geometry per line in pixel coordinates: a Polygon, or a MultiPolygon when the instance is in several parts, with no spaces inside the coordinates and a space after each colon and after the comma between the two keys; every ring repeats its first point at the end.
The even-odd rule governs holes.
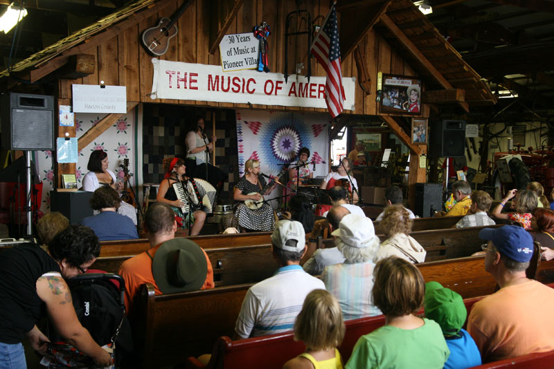
{"type": "MultiPolygon", "coordinates": [[[[436,280],[470,298],[481,296],[483,291],[492,293],[496,286],[485,271],[483,260],[479,256],[422,263],[418,267],[426,281],[436,280]],[[449,272],[443,272],[441,267],[449,272]],[[440,272],[434,275],[436,270],[440,272]],[[469,273],[476,275],[469,276],[469,273]]],[[[218,337],[233,336],[242,299],[251,285],[162,296],[154,296],[152,285],[141,287],[134,304],[132,325],[138,328],[134,336],[139,341],[138,352],[144,355],[142,360],[148,363],[145,367],[184,362],[186,357],[210,352],[218,337]]]]}

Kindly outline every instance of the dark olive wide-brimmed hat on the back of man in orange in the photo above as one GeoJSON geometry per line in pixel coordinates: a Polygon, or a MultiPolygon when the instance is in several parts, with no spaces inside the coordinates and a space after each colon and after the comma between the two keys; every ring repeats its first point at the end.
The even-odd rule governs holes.
{"type": "Polygon", "coordinates": [[[200,289],[207,273],[204,251],[187,238],[163,242],[152,261],[152,275],[163,294],[200,289]]]}

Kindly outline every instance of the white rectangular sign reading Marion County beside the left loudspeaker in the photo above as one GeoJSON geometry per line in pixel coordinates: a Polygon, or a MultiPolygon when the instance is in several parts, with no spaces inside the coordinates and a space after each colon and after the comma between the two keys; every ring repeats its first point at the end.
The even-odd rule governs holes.
{"type": "Polygon", "coordinates": [[[74,113],[127,114],[127,87],[72,84],[74,113]]]}

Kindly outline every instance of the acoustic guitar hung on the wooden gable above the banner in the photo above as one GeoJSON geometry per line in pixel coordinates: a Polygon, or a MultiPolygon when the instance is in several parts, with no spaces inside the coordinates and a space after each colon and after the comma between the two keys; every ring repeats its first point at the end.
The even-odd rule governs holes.
{"type": "Polygon", "coordinates": [[[163,17],[160,19],[157,26],[148,28],[143,32],[142,41],[143,46],[148,53],[152,55],[161,56],[168,51],[170,39],[177,35],[177,25],[175,22],[183,13],[193,0],[185,1],[177,12],[170,18],[163,17]]]}

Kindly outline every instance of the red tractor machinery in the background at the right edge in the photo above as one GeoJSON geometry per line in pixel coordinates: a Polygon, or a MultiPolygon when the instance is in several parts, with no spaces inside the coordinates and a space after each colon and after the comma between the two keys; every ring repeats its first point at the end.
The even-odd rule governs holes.
{"type": "Polygon", "coordinates": [[[514,150],[494,153],[492,185],[496,187],[495,197],[500,199],[512,188],[523,190],[531,181],[544,187],[545,195],[554,188],[554,151],[514,150]]]}

